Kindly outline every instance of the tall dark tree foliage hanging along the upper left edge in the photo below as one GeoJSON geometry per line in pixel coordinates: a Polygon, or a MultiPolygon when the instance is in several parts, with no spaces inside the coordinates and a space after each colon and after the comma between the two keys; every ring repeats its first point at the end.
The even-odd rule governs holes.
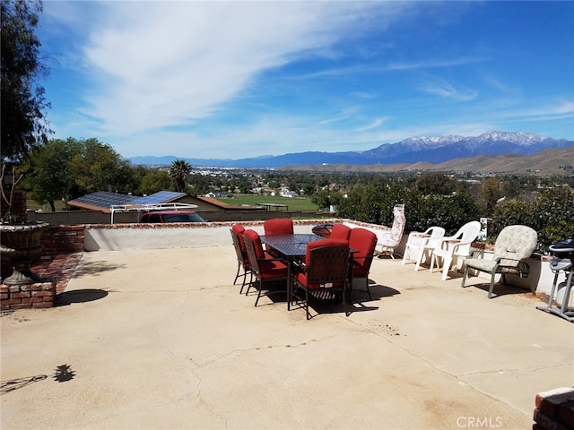
{"type": "Polygon", "coordinates": [[[0,68],[2,159],[20,160],[39,142],[48,140],[50,129],[44,109],[49,103],[37,79],[48,74],[39,61],[38,26],[41,1],[2,0],[0,68]]]}

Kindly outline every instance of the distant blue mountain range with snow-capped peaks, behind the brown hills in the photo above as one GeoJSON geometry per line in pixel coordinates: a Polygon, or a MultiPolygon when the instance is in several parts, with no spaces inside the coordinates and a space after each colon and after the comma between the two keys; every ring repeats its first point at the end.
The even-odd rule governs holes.
{"type": "Polygon", "coordinates": [[[219,168],[294,168],[301,166],[301,160],[305,160],[306,166],[413,165],[415,163],[440,164],[453,159],[477,156],[527,156],[548,149],[565,148],[574,151],[574,141],[552,139],[534,133],[489,132],[474,137],[452,134],[411,137],[401,142],[384,143],[377,148],[364,151],[307,151],[247,159],[185,159],[174,156],[145,156],[133,157],[130,161],[140,165],[169,166],[176,159],[185,159],[194,167],[219,168]]]}

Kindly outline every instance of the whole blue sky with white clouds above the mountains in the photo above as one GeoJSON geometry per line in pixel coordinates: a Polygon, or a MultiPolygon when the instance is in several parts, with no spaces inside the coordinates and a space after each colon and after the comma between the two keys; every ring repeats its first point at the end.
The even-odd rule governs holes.
{"type": "Polygon", "coordinates": [[[574,140],[574,2],[45,0],[53,137],[123,157],[574,140]]]}

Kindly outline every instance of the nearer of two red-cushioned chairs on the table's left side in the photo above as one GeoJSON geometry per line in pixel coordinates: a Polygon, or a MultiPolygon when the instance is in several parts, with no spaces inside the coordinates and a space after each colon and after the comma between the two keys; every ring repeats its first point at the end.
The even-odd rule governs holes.
{"type": "MultiPolygon", "coordinates": [[[[265,254],[263,245],[261,244],[261,237],[259,237],[257,231],[252,229],[245,230],[243,233],[243,239],[245,241],[245,249],[248,253],[251,271],[257,280],[259,280],[259,291],[255,301],[255,305],[257,306],[266,282],[287,280],[287,266],[281,259],[272,258],[268,254],[265,254]]],[[[250,283],[246,295],[248,294],[251,285],[252,284],[250,283]]],[[[265,295],[268,296],[271,293],[271,290],[267,290],[265,295]]]]}

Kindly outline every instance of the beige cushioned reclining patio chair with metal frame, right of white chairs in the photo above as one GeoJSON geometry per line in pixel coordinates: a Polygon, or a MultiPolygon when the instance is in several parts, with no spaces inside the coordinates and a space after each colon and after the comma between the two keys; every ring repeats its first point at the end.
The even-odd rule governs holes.
{"type": "Polygon", "coordinates": [[[533,228],[520,225],[502,228],[494,243],[492,260],[484,260],[482,258],[465,259],[462,287],[465,287],[468,269],[485,271],[491,274],[488,298],[492,297],[494,277],[497,273],[502,275],[501,280],[503,284],[506,284],[506,275],[508,273],[527,278],[530,266],[526,262],[526,258],[530,257],[534,252],[537,241],[538,234],[533,228]]]}

